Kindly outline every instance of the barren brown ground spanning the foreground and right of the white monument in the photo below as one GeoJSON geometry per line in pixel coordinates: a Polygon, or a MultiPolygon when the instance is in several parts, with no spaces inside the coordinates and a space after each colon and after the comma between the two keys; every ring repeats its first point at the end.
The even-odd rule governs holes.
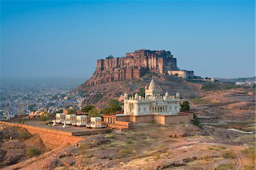
{"type": "MultiPolygon", "coordinates": [[[[185,99],[183,99],[185,100],[185,99]]],[[[156,123],[86,136],[3,169],[255,169],[255,98],[241,90],[189,99],[201,127],[156,123]]]]}

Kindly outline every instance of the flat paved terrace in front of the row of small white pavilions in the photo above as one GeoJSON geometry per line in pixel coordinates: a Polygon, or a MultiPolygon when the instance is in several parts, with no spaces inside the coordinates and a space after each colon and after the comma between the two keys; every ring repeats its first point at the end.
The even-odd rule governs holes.
{"type": "Polygon", "coordinates": [[[106,132],[106,128],[99,128],[99,129],[89,129],[86,127],[72,127],[71,125],[67,125],[67,127],[62,127],[62,125],[56,125],[56,126],[50,126],[45,125],[42,121],[38,121],[37,119],[24,119],[24,124],[18,123],[19,120],[9,120],[9,121],[0,121],[1,123],[5,124],[13,124],[14,126],[29,128],[29,126],[32,127],[39,127],[41,130],[44,128],[46,131],[49,129],[51,131],[61,131],[61,134],[63,132],[66,132],[67,135],[72,136],[82,136],[82,135],[92,135],[92,134],[101,134],[106,132]]]}

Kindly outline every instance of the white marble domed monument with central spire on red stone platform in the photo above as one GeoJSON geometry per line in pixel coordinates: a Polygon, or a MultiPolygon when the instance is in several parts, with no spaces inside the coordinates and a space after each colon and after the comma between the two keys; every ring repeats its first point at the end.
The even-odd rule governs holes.
{"type": "Polygon", "coordinates": [[[145,97],[137,93],[133,97],[128,97],[125,93],[123,97],[123,113],[103,116],[104,122],[110,128],[131,128],[131,122],[156,122],[170,126],[173,123],[188,123],[193,119],[193,113],[180,112],[180,94],[171,96],[166,92],[161,96],[153,79],[145,87],[145,97]]]}

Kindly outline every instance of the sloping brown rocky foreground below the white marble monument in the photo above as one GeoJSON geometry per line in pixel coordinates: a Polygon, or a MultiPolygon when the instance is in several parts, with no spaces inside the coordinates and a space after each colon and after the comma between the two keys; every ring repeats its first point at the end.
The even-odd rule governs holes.
{"type": "MultiPolygon", "coordinates": [[[[133,130],[89,136],[5,169],[221,169],[254,167],[242,151],[254,135],[194,125],[140,123],[133,130]],[[181,138],[172,138],[181,134],[181,138]],[[239,142],[237,139],[240,138],[239,142]],[[36,164],[35,164],[36,163],[36,164]]],[[[251,143],[248,143],[251,142],[251,143]]]]}

